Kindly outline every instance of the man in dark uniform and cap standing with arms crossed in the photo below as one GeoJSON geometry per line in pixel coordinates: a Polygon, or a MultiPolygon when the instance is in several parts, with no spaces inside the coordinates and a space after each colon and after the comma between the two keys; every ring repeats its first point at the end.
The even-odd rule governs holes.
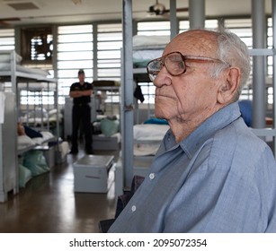
{"type": "Polygon", "coordinates": [[[71,154],[78,152],[78,129],[82,122],[85,133],[85,152],[92,154],[92,127],[91,127],[91,94],[93,91],[92,83],[85,82],[85,72],[80,69],[78,71],[79,82],[74,82],[70,87],[70,97],[73,98],[72,110],[72,147],[71,154]]]}

